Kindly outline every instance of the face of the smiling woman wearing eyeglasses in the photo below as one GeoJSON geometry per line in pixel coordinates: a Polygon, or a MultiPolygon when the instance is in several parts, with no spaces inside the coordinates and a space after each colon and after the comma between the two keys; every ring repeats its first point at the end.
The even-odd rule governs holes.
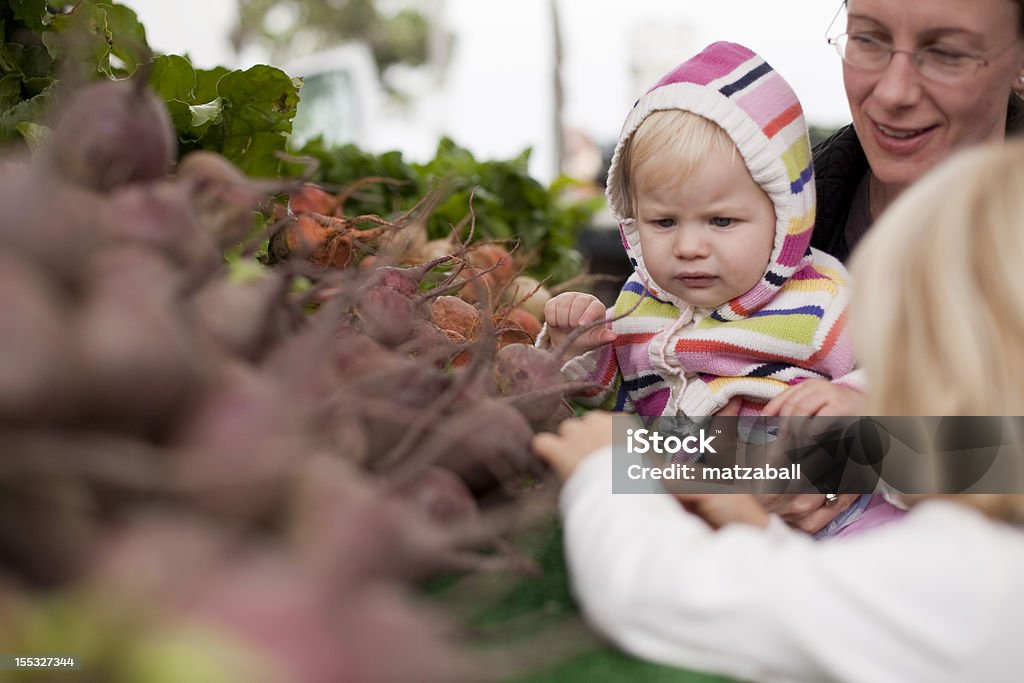
{"type": "Polygon", "coordinates": [[[1007,102],[1024,76],[1014,0],[849,0],[847,33],[901,50],[881,72],[843,63],[850,112],[877,180],[900,190],[959,147],[1005,136],[1007,102]],[[923,47],[988,62],[963,81],[929,80],[923,47]]]}

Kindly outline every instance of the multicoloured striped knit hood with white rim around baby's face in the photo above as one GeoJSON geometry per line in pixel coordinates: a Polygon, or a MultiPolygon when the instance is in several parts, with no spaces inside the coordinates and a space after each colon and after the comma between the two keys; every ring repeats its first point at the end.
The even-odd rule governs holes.
{"type": "Polygon", "coordinates": [[[740,319],[757,311],[778,289],[811,262],[814,182],[803,110],[778,73],[750,49],[735,43],[709,45],[648,90],[626,118],[608,170],[607,198],[634,267],[658,298],[688,307],[657,291],[643,262],[636,221],[627,216],[623,150],[651,113],[681,110],[718,124],[739,151],[754,181],[775,209],[775,244],[764,275],[744,294],[719,306],[714,317],[740,319]]]}

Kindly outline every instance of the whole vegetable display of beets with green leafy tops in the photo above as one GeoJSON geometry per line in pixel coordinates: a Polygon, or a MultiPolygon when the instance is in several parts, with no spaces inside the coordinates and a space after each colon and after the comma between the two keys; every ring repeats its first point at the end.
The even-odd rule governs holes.
{"type": "Polygon", "coordinates": [[[299,82],[154,56],[117,3],[0,32],[0,649],[103,683],[602,651],[529,451],[586,389],[532,342],[591,209],[525,154],[285,154],[299,82]]]}

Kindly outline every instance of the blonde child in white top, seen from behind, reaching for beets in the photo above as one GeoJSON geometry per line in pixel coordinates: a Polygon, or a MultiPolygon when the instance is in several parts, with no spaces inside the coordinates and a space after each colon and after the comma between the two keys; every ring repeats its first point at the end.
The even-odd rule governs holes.
{"type": "MultiPolygon", "coordinates": [[[[852,328],[871,414],[1024,415],[1021,187],[1024,140],[961,153],[864,239],[852,328]]],[[[624,649],[757,681],[1020,680],[1021,496],[931,497],[815,543],[748,496],[690,495],[690,514],[611,495],[610,419],[566,421],[535,449],[567,477],[583,612],[624,649]]]]}

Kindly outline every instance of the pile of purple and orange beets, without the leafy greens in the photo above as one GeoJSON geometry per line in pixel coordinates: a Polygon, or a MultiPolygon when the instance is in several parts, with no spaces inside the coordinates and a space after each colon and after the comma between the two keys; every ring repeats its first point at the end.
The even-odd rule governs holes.
{"type": "Polygon", "coordinates": [[[417,586],[534,569],[487,510],[550,489],[529,441],[579,387],[511,254],[454,229],[408,265],[429,200],[347,219],[178,161],[140,78],[85,86],[0,165],[4,649],[88,681],[495,674],[417,586]],[[257,210],[274,263],[229,267],[257,210]]]}

